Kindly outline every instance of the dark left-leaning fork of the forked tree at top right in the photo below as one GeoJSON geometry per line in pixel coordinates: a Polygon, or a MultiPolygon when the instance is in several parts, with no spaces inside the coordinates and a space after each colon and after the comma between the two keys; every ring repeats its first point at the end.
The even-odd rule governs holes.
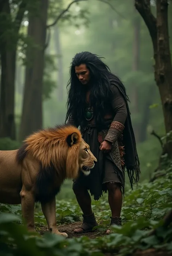
{"type": "Polygon", "coordinates": [[[135,0],[135,7],[147,25],[152,38],[153,48],[157,52],[157,28],[156,18],[151,12],[150,0],[135,0]]]}

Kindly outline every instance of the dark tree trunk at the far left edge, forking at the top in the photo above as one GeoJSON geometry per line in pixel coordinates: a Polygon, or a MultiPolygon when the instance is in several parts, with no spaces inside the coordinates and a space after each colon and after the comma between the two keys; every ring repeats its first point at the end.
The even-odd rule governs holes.
{"type": "Polygon", "coordinates": [[[1,55],[1,94],[0,94],[0,137],[16,138],[15,132],[15,70],[16,50],[19,29],[26,9],[26,1],[21,1],[15,20],[12,22],[9,1],[0,3],[0,55],[1,55]],[[4,36],[11,30],[12,38],[4,36]],[[15,36],[13,36],[15,33],[15,36]]]}

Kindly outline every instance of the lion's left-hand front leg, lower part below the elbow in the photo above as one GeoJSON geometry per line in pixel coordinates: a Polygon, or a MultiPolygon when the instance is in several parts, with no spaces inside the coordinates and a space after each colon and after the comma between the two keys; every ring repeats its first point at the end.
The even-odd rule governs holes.
{"type": "Polygon", "coordinates": [[[29,231],[34,229],[34,195],[23,186],[20,191],[22,215],[29,231]]]}

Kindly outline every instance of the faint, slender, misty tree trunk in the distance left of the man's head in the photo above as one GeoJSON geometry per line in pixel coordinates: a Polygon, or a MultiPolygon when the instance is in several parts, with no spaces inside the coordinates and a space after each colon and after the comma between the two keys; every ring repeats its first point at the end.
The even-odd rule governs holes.
{"type": "Polygon", "coordinates": [[[60,43],[60,32],[57,25],[54,29],[54,41],[55,41],[56,53],[58,56],[57,92],[58,92],[58,99],[60,102],[62,102],[64,99],[63,59],[62,59],[63,57],[62,57],[62,50],[61,50],[61,43],[60,43]]]}

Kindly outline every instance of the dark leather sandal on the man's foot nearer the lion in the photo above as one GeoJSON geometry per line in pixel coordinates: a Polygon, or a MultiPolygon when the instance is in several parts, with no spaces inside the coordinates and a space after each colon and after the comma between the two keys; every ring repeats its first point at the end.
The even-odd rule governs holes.
{"type": "Polygon", "coordinates": [[[87,232],[93,232],[93,228],[96,227],[98,224],[97,224],[97,221],[95,219],[95,216],[94,216],[94,213],[93,214],[90,214],[90,215],[82,215],[83,217],[83,222],[82,222],[82,225],[81,227],[78,227],[76,229],[79,229],[81,228],[82,231],[79,231],[79,232],[76,232],[74,231],[75,233],[87,233],[87,232]]]}

